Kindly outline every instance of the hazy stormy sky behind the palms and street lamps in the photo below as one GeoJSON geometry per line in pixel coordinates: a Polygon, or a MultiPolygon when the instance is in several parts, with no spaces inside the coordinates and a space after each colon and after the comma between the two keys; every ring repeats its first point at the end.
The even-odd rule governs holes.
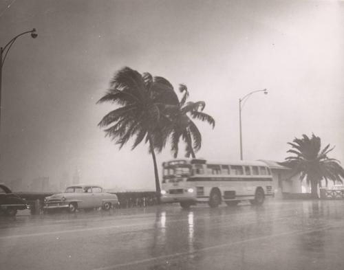
{"type": "MultiPolygon", "coordinates": [[[[121,67],[163,76],[204,100],[197,157],[282,161],[287,142],[318,135],[344,162],[343,1],[0,0],[0,45],[21,36],[3,66],[0,181],[80,170],[83,182],[153,189],[148,146],[118,150],[97,105],[121,67]]],[[[181,146],[182,147],[182,146],[181,146]]],[[[184,147],[180,149],[184,157],[184,147]]],[[[158,164],[171,159],[169,147],[158,164]]],[[[160,168],[161,171],[161,168],[160,168]]]]}

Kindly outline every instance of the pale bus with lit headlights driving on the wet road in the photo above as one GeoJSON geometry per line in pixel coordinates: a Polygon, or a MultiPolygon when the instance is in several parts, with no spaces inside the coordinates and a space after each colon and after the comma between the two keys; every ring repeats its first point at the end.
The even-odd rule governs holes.
{"type": "Polygon", "coordinates": [[[273,196],[272,174],[262,161],[214,162],[206,159],[173,159],[162,164],[162,203],[178,202],[183,208],[196,203],[217,207],[264,203],[273,196]]]}

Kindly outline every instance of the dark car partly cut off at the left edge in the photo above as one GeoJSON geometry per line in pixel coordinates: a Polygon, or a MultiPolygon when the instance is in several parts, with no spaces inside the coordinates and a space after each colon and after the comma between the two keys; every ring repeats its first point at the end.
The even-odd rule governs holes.
{"type": "Polygon", "coordinates": [[[18,210],[28,209],[28,204],[14,194],[6,185],[0,183],[0,212],[6,216],[15,216],[18,210]]]}

